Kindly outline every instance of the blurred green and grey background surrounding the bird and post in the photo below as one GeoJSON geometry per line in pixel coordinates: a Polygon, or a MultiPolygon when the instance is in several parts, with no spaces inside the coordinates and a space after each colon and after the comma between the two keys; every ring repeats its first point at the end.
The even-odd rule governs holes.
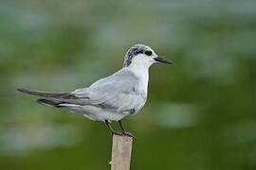
{"type": "Polygon", "coordinates": [[[110,169],[105,125],[40,106],[17,87],[72,91],[144,43],[146,106],[124,125],[132,169],[256,169],[256,1],[0,2],[0,169],[110,169]]]}

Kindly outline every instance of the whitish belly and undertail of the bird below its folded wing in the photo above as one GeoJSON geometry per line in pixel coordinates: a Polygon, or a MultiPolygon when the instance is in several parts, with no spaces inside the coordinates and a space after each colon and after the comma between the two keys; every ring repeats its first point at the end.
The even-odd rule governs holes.
{"type": "Polygon", "coordinates": [[[79,106],[73,104],[62,104],[61,106],[66,107],[68,110],[82,113],[84,117],[93,121],[119,121],[129,114],[129,112],[112,112],[108,110],[102,110],[101,108],[90,105],[79,106]]]}

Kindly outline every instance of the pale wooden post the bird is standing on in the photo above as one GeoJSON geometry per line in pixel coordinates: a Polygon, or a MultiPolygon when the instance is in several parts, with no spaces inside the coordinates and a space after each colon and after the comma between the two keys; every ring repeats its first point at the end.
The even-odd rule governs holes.
{"type": "Polygon", "coordinates": [[[130,170],[133,138],[113,135],[111,170],[130,170]]]}

